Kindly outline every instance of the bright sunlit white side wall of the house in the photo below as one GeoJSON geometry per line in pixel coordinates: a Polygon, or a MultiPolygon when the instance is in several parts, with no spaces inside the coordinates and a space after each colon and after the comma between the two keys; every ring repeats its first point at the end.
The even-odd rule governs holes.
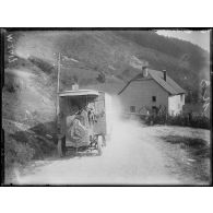
{"type": "Polygon", "coordinates": [[[184,105],[185,105],[185,94],[169,96],[168,97],[168,114],[171,116],[180,114],[182,111],[184,105]]]}

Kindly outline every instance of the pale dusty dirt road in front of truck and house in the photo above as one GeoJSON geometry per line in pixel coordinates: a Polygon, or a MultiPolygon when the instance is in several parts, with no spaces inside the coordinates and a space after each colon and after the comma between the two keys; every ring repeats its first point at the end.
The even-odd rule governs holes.
{"type": "MultiPolygon", "coordinates": [[[[196,159],[189,158],[185,150],[161,138],[169,133],[193,137],[199,134],[204,135],[206,141],[210,140],[208,130],[201,130],[203,135],[198,131],[166,126],[142,127],[134,121],[117,122],[111,141],[102,156],[96,156],[94,152],[37,161],[22,175],[17,175],[17,184],[206,185],[206,180],[196,178],[194,173],[191,173],[191,164],[197,163],[196,159]]],[[[209,165],[209,162],[205,163],[209,165]]]]}

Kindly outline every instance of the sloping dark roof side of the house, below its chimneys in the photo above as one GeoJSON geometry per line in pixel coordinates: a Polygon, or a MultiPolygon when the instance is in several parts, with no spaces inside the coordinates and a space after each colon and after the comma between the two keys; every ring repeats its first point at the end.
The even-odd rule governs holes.
{"type": "Polygon", "coordinates": [[[164,90],[166,90],[170,95],[178,95],[186,93],[173,79],[166,74],[166,81],[164,81],[164,73],[162,71],[149,69],[149,73],[153,80],[155,80],[164,90]]]}

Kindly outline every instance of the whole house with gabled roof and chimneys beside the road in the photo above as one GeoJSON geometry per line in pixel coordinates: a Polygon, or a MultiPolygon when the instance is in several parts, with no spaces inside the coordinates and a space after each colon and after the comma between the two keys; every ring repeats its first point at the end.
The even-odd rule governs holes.
{"type": "Polygon", "coordinates": [[[119,96],[126,113],[143,115],[161,108],[178,115],[185,105],[185,93],[166,71],[142,68],[142,73],[129,81],[119,96]]]}

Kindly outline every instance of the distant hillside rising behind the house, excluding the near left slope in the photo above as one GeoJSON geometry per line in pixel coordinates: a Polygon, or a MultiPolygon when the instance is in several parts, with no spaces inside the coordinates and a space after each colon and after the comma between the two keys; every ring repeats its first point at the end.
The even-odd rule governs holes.
{"type": "MultiPolygon", "coordinates": [[[[188,42],[166,38],[154,32],[22,32],[17,33],[16,55],[57,63],[54,54],[66,56],[62,81],[73,73],[82,85],[95,84],[103,72],[108,79],[129,80],[144,61],[156,70],[166,69],[184,88],[196,91],[209,78],[209,54],[188,42]]],[[[70,82],[64,82],[70,83],[70,82]]]]}

